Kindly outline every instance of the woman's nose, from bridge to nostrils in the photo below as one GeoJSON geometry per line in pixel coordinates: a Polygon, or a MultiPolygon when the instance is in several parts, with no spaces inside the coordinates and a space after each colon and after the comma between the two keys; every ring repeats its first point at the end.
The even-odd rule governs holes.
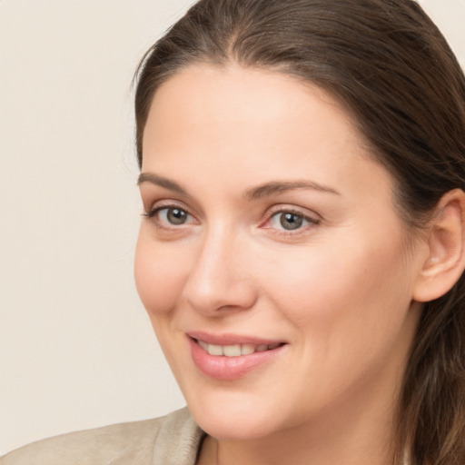
{"type": "Polygon", "coordinates": [[[206,233],[183,288],[184,299],[206,316],[248,310],[257,299],[251,257],[237,234],[206,233]]]}

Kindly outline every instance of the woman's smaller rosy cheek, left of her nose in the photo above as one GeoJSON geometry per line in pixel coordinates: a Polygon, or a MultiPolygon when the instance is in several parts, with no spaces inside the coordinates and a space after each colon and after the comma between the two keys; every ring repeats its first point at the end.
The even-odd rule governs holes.
{"type": "Polygon", "coordinates": [[[149,315],[171,312],[188,277],[185,257],[161,247],[141,231],[134,260],[137,292],[149,315]]]}

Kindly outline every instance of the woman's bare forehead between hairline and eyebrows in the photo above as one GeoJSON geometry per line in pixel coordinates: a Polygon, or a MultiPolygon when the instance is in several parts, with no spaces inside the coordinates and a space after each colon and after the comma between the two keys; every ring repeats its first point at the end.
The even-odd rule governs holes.
{"type": "Polygon", "coordinates": [[[272,71],[202,64],[175,74],[154,95],[143,171],[176,173],[183,182],[190,168],[218,189],[309,177],[360,191],[373,171],[390,184],[365,146],[351,115],[322,88],[272,71]]]}

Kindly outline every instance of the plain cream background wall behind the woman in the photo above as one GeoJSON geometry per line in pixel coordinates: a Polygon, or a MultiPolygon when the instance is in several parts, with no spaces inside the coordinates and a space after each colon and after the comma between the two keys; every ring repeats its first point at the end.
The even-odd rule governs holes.
{"type": "MultiPolygon", "coordinates": [[[[421,2],[465,64],[465,0],[421,2]]],[[[133,280],[132,74],[186,0],[0,0],[0,454],[183,405],[133,280]]]]}

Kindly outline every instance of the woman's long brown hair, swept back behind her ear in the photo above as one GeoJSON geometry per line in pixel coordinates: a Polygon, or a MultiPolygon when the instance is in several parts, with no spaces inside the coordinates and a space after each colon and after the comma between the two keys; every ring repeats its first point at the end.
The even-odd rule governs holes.
{"type": "MultiPolygon", "coordinates": [[[[355,117],[393,175],[401,217],[420,228],[465,190],[465,78],[413,0],[200,0],[145,54],[136,142],[156,89],[194,63],[272,69],[322,86],[355,117]]],[[[425,304],[399,399],[393,463],[465,464],[465,281],[425,304]]]]}

